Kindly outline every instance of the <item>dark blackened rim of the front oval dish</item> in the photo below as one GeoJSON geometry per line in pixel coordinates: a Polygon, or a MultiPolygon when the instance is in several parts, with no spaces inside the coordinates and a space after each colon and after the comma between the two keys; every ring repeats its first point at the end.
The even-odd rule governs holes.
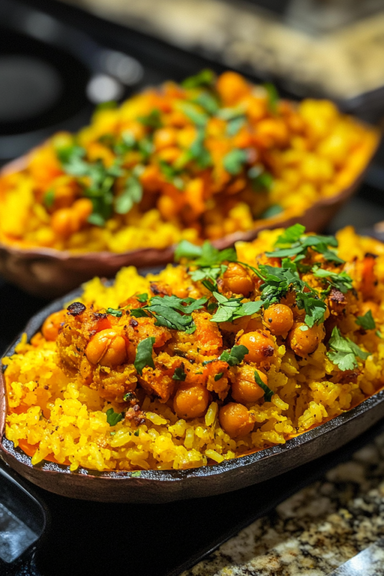
{"type": "MultiPolygon", "coordinates": [[[[107,285],[111,285],[113,280],[107,281],[107,285]]],[[[64,307],[65,304],[74,300],[74,298],[79,297],[82,294],[82,289],[77,288],[71,291],[69,294],[64,295],[61,298],[58,298],[54,302],[51,302],[48,306],[45,306],[41,309],[35,316],[28,321],[26,327],[23,332],[21,332],[16,340],[7,348],[5,354],[3,356],[9,356],[14,354],[14,348],[17,344],[21,341],[22,335],[26,332],[28,340],[37,332],[37,330],[41,327],[41,324],[45,320],[47,316],[49,316],[52,312],[56,312],[64,307]]],[[[5,367],[3,367],[5,370],[5,367]]],[[[239,456],[233,458],[231,460],[225,460],[220,464],[214,465],[206,465],[201,466],[199,468],[189,468],[187,470],[142,470],[140,471],[140,481],[146,482],[155,480],[157,482],[177,482],[186,478],[191,477],[210,477],[210,476],[217,476],[222,475],[223,473],[232,471],[234,469],[241,469],[246,468],[250,465],[257,463],[258,461],[265,460],[271,456],[275,456],[276,454],[280,453],[291,453],[296,447],[308,444],[313,442],[316,438],[322,436],[323,434],[328,433],[331,430],[337,429],[340,426],[343,426],[346,422],[353,419],[358,419],[359,416],[370,410],[371,408],[378,406],[384,401],[384,389],[379,390],[374,395],[368,397],[366,400],[363,400],[361,404],[348,410],[347,412],[343,412],[339,416],[332,418],[328,422],[321,424],[320,426],[316,426],[315,428],[308,430],[302,434],[299,434],[295,438],[291,438],[287,440],[286,444],[284,445],[276,445],[271,446],[270,448],[264,448],[262,450],[258,450],[258,452],[253,452],[251,454],[245,454],[244,456],[239,456]]],[[[97,478],[107,478],[107,479],[120,479],[120,480],[138,480],[137,474],[132,476],[132,471],[110,471],[110,472],[98,472],[86,468],[79,468],[75,472],[70,472],[68,465],[56,464],[48,461],[43,461],[43,463],[38,464],[37,466],[32,465],[31,457],[27,456],[20,448],[15,448],[12,441],[9,441],[5,438],[5,435],[2,435],[3,431],[0,431],[0,447],[4,449],[6,452],[11,453],[14,457],[17,458],[18,461],[22,462],[23,464],[27,465],[30,468],[39,467],[44,472],[59,472],[64,474],[76,474],[78,476],[83,476],[84,478],[89,477],[97,477],[97,478]]],[[[136,471],[137,472],[137,471],[136,471]]],[[[134,472],[133,472],[134,473],[134,472]]]]}

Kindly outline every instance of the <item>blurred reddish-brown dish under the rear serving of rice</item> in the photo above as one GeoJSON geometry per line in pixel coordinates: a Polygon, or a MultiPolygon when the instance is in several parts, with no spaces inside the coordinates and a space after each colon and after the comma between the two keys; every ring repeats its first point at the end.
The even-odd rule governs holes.
{"type": "MultiPolygon", "coordinates": [[[[378,144],[378,142],[377,142],[378,144]]],[[[377,145],[373,147],[371,157],[377,145]]],[[[370,158],[367,160],[367,165],[370,158]]],[[[25,168],[27,156],[3,166],[0,176],[25,168]]],[[[304,212],[284,211],[272,218],[257,221],[248,232],[235,232],[212,242],[216,248],[227,248],[238,240],[256,238],[260,230],[291,226],[296,222],[311,232],[320,232],[359,187],[365,170],[339,194],[320,198],[304,212]]],[[[53,248],[20,248],[0,241],[0,274],[26,292],[45,298],[56,298],[73,290],[94,276],[111,278],[122,266],[139,268],[159,266],[173,261],[175,246],[165,249],[144,248],[129,252],[73,253],[53,248]]]]}

